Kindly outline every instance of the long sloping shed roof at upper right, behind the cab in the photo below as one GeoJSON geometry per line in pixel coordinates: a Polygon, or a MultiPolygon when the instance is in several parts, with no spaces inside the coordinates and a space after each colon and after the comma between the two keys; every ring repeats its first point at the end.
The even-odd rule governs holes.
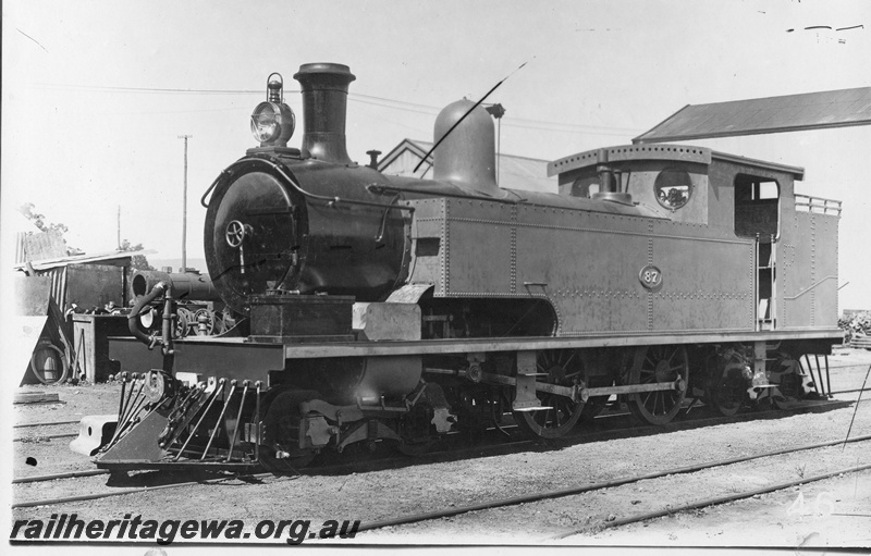
{"type": "Polygon", "coordinates": [[[871,124],[871,87],[687,104],[635,144],[871,124]]]}

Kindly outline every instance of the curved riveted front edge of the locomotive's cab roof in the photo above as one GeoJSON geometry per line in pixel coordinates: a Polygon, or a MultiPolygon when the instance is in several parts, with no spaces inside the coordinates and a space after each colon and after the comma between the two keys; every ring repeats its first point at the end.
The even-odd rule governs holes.
{"type": "Polygon", "coordinates": [[[711,149],[686,145],[624,145],[587,150],[548,163],[548,176],[564,174],[580,168],[597,166],[608,162],[627,160],[672,160],[679,162],[711,163],[711,149]]]}

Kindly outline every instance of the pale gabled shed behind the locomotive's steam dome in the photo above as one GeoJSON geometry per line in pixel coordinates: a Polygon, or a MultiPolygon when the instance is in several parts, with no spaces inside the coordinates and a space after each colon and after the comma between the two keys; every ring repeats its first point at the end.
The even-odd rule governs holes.
{"type": "MultiPolygon", "coordinates": [[[[431,178],[432,157],[428,164],[414,169],[432,148],[432,143],[403,139],[378,163],[379,172],[389,175],[431,178]]],[[[548,177],[548,161],[514,155],[499,155],[499,186],[506,189],[556,193],[555,180],[548,177]]]]}

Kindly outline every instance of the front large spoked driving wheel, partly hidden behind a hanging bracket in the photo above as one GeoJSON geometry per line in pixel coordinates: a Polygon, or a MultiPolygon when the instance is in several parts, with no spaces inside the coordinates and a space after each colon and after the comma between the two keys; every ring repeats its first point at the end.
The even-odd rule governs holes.
{"type": "MultiPolygon", "coordinates": [[[[581,366],[577,354],[571,349],[540,351],[536,361],[538,372],[547,375],[538,380],[561,386],[573,386],[581,380],[581,366]]],[[[513,411],[517,427],[537,438],[559,438],[565,435],[580,419],[584,401],[574,401],[565,396],[539,393],[541,405],[547,409],[513,411]]]]}

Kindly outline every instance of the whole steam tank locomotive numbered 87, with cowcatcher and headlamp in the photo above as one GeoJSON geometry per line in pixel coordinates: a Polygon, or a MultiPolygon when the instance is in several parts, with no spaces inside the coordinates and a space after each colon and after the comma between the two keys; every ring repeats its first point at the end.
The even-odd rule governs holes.
{"type": "Polygon", "coordinates": [[[728,416],[825,395],[839,205],[796,195],[802,169],[627,145],[551,162],[559,194],[505,189],[491,116],[461,100],[436,120],[432,178],[396,177],[347,155],[347,66],[294,77],[300,147],[272,74],[259,145],[203,196],[236,324],[175,337],[185,288],[154,284],[136,339],[110,343],[119,416],[76,441],[98,467],[281,471],[512,421],[557,438],[609,399],[662,424],[690,399],[728,416]]]}

